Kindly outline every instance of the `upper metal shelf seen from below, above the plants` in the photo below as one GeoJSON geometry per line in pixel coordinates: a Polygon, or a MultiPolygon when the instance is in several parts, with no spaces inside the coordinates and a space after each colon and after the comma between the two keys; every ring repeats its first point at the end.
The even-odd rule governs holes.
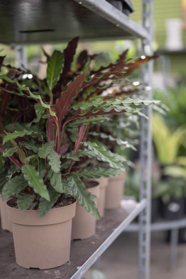
{"type": "Polygon", "coordinates": [[[30,44],[148,38],[147,31],[106,0],[0,0],[0,42],[30,44]]]}

